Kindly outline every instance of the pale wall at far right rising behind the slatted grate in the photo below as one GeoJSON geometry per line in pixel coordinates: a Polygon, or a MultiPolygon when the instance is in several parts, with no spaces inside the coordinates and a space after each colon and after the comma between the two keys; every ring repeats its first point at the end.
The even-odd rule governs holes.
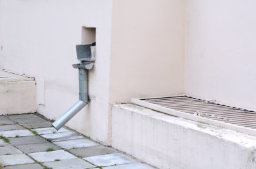
{"type": "Polygon", "coordinates": [[[185,91],[256,109],[256,1],[187,1],[185,91]]]}

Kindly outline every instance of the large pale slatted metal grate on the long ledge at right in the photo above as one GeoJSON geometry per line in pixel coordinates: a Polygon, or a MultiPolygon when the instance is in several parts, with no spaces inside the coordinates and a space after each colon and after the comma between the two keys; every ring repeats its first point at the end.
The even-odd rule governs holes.
{"type": "Polygon", "coordinates": [[[256,135],[255,111],[204,101],[187,95],[131,99],[131,102],[169,115],[256,135]]]}

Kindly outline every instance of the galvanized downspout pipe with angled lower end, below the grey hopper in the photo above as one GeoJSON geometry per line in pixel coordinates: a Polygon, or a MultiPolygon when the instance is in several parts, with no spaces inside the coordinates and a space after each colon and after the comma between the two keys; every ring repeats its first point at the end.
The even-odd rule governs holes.
{"type": "MultiPolygon", "coordinates": [[[[86,60],[89,59],[87,58],[86,60]]],[[[92,69],[93,65],[93,60],[86,62],[82,60],[81,64],[73,64],[73,68],[78,68],[79,72],[79,101],[77,101],[75,105],[68,109],[61,117],[59,117],[59,119],[57,119],[52,124],[55,129],[61,129],[61,127],[63,127],[67,121],[69,121],[90,102],[88,96],[88,70],[92,69]]]]}

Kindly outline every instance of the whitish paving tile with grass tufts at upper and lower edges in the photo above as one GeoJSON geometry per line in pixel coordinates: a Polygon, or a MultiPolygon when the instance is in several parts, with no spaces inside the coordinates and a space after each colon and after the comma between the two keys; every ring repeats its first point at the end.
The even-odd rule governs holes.
{"type": "Polygon", "coordinates": [[[28,155],[34,158],[34,160],[38,162],[53,162],[56,159],[69,160],[69,159],[77,158],[73,156],[73,154],[70,154],[69,152],[65,152],[64,150],[57,150],[53,152],[36,152],[36,153],[30,153],[28,155]]]}

